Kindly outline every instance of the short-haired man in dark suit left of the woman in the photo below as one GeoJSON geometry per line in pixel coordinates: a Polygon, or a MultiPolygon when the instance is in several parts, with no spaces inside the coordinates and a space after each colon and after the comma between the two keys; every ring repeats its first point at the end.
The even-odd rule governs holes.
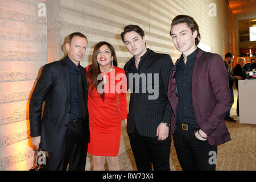
{"type": "Polygon", "coordinates": [[[44,65],[30,99],[31,143],[49,152],[48,170],[85,170],[89,142],[86,71],[80,61],[87,47],[80,32],[69,35],[63,60],[44,65]],[[42,115],[42,104],[44,112],[42,115]]]}

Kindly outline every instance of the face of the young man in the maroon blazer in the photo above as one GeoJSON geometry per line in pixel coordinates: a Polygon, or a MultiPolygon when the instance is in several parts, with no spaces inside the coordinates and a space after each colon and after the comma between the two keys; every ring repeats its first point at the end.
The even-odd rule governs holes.
{"type": "Polygon", "coordinates": [[[195,43],[197,31],[192,33],[187,23],[175,24],[171,29],[171,37],[177,50],[184,55],[190,55],[197,48],[195,43]]]}

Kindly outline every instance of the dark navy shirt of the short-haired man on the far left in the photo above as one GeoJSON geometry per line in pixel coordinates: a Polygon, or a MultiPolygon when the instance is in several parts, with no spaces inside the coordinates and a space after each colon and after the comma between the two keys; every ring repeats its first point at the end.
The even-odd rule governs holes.
{"type": "Polygon", "coordinates": [[[69,78],[71,87],[71,113],[69,119],[80,118],[79,115],[79,99],[77,94],[77,71],[76,65],[68,57],[68,67],[69,67],[69,78]]]}

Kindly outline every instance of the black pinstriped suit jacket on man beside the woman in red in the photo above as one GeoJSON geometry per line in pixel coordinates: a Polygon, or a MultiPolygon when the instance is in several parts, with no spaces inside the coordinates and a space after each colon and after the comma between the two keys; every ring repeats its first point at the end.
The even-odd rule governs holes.
{"type": "Polygon", "coordinates": [[[127,133],[133,133],[136,127],[140,135],[156,137],[156,128],[161,122],[171,123],[172,109],[167,98],[167,88],[174,64],[170,55],[155,53],[150,49],[148,51],[138,75],[134,75],[135,78],[146,76],[147,79],[144,84],[143,81],[140,81],[138,85],[131,84],[133,82],[132,59],[124,67],[128,87],[131,89],[127,133]],[[158,75],[158,77],[155,77],[155,75],[158,75]],[[150,99],[150,97],[154,98],[156,95],[153,95],[156,93],[148,90],[148,86],[158,90],[158,97],[156,99],[150,99]],[[138,88],[139,93],[136,92],[138,88]],[[143,92],[143,90],[146,90],[146,92],[143,92]]]}

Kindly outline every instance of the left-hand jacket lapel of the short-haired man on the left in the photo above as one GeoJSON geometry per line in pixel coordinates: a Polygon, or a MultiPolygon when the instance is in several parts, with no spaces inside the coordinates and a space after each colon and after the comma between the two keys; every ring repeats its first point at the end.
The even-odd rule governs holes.
{"type": "Polygon", "coordinates": [[[68,95],[68,101],[71,103],[71,86],[70,86],[70,78],[69,78],[69,67],[67,63],[67,56],[64,57],[64,59],[61,61],[61,66],[63,66],[63,69],[61,69],[63,73],[63,81],[65,85],[65,90],[68,95]]]}

